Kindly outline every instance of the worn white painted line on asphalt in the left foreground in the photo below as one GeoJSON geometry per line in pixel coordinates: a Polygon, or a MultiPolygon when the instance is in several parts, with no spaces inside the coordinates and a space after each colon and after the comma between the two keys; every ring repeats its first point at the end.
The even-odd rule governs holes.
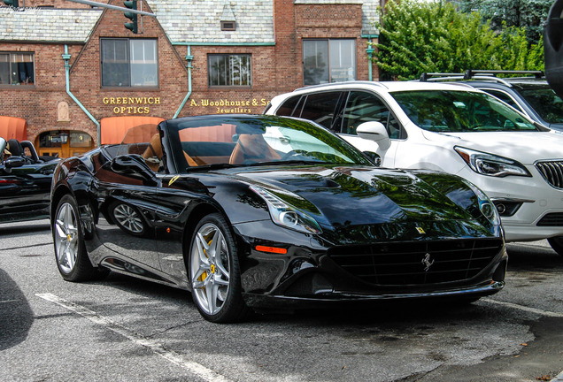
{"type": "Polygon", "coordinates": [[[85,308],[81,305],[75,304],[73,302],[68,302],[55,294],[35,294],[37,297],[41,297],[43,300],[48,302],[54,302],[63,308],[69,309],[74,313],[81,315],[82,317],[88,318],[90,321],[97,325],[103,325],[105,328],[116,332],[127,340],[135,342],[137,345],[141,345],[144,348],[149,348],[152,352],[157,355],[162,356],[171,363],[177,364],[190,372],[193,372],[198,377],[210,381],[210,382],[230,382],[228,378],[223,377],[216,371],[207,369],[205,366],[191,362],[185,359],[182,355],[174,352],[173,350],[166,349],[162,344],[157,341],[150,340],[142,335],[139,335],[131,330],[127,329],[125,326],[112,322],[109,318],[98,315],[95,311],[85,308]]]}

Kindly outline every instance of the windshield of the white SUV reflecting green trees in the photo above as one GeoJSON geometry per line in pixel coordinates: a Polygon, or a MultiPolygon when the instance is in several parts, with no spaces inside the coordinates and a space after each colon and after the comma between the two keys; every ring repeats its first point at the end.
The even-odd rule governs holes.
{"type": "Polygon", "coordinates": [[[391,95],[414,124],[438,133],[534,131],[536,126],[497,100],[477,92],[417,90],[391,95]]]}

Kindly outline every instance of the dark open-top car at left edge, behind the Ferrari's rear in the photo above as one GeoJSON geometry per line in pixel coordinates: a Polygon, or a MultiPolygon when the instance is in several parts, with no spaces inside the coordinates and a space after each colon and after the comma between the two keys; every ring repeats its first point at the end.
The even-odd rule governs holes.
{"type": "Polygon", "coordinates": [[[0,223],[49,218],[57,163],[38,157],[30,141],[0,138],[0,223]]]}

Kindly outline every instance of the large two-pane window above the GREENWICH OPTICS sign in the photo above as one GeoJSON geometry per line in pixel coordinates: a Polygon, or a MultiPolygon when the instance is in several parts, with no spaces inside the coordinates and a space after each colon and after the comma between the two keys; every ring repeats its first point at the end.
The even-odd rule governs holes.
{"type": "Polygon", "coordinates": [[[157,40],[101,39],[102,86],[158,87],[157,40]]]}

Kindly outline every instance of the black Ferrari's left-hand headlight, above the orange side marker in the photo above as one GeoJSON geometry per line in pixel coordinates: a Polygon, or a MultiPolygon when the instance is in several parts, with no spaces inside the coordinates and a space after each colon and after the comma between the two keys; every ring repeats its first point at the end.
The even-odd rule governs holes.
{"type": "Polygon", "coordinates": [[[276,225],[281,225],[300,233],[321,233],[320,225],[314,218],[297,210],[278,196],[262,187],[251,186],[251,190],[260,195],[268,206],[270,216],[276,225]]]}

